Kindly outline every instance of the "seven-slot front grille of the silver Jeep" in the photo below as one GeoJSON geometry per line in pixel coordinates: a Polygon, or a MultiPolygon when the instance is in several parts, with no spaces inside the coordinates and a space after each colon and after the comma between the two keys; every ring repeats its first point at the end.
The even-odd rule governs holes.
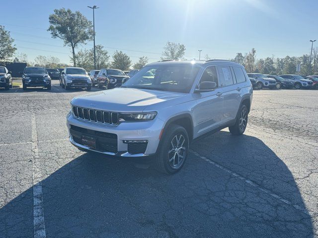
{"type": "Polygon", "coordinates": [[[81,108],[77,106],[72,106],[72,112],[73,116],[78,119],[113,125],[117,125],[119,122],[119,114],[115,112],[105,112],[100,110],[81,108]]]}

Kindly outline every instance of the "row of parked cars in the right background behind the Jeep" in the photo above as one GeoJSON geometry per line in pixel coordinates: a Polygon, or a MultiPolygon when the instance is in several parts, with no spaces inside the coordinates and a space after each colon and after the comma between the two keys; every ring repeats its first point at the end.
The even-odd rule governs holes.
{"type": "Polygon", "coordinates": [[[318,89],[318,75],[301,76],[297,74],[270,75],[247,73],[254,89],[270,88],[309,88],[318,89]]]}

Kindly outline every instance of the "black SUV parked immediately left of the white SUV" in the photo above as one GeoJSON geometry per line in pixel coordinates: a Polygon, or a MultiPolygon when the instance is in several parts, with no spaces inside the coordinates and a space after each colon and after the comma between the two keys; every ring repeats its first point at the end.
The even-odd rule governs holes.
{"type": "Polygon", "coordinates": [[[51,90],[51,77],[43,67],[25,67],[22,74],[23,90],[27,87],[44,87],[51,90]]]}

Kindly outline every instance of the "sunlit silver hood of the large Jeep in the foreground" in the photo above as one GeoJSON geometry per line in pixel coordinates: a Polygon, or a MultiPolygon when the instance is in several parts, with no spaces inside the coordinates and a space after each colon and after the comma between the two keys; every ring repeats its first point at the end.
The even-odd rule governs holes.
{"type": "MultiPolygon", "coordinates": [[[[187,94],[137,88],[114,88],[75,97],[71,104],[84,108],[116,112],[142,112],[147,106],[178,104],[187,94]]],[[[153,107],[152,107],[153,108],[153,107]]]]}

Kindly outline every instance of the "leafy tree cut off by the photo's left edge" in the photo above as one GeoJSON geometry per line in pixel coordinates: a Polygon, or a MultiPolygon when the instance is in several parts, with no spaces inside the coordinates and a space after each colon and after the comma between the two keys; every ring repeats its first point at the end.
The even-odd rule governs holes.
{"type": "Polygon", "coordinates": [[[4,26],[0,25],[0,59],[10,59],[15,51],[14,40],[10,37],[10,32],[4,29],[4,26]]]}

